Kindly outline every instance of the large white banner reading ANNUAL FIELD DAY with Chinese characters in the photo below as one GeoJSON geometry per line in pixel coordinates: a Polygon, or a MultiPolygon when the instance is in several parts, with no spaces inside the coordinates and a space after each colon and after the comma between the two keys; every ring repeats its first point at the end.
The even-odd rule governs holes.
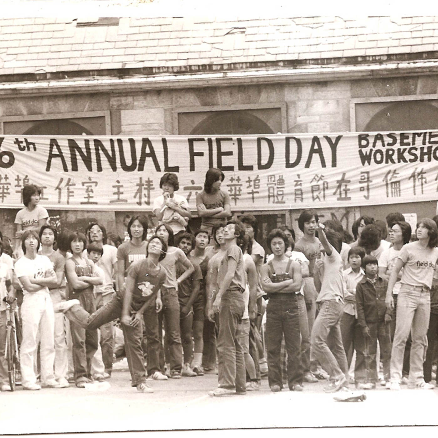
{"type": "Polygon", "coordinates": [[[174,172],[192,209],[205,172],[225,173],[232,210],[378,205],[437,199],[438,131],[269,136],[0,137],[0,205],[25,184],[53,209],[151,209],[174,172]]]}

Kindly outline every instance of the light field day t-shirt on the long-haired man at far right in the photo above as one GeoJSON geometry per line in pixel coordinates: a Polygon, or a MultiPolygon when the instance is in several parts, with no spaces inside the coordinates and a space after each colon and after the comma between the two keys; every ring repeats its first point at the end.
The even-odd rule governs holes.
{"type": "Polygon", "coordinates": [[[399,257],[403,261],[402,284],[410,286],[432,286],[438,248],[424,248],[418,241],[403,245],[399,257]]]}

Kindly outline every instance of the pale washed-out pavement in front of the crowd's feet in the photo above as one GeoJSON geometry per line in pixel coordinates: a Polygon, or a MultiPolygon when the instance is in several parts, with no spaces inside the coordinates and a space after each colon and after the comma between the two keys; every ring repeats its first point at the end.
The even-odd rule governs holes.
{"type": "Polygon", "coordinates": [[[89,431],[156,431],[218,428],[332,427],[438,424],[438,389],[399,392],[378,388],[367,400],[339,403],[323,382],[303,392],[273,393],[268,381],[245,396],[213,398],[217,375],[151,381],[153,394],[130,386],[127,371],[114,371],[110,388],[91,392],[71,386],[0,393],[2,434],[89,431]],[[25,412],[25,414],[23,414],[25,412]]]}

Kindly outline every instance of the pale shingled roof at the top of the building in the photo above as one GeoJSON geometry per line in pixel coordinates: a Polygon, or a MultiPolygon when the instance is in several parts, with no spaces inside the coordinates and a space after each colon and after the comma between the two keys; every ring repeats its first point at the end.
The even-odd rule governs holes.
{"type": "Polygon", "coordinates": [[[0,19],[0,74],[321,60],[438,50],[438,17],[0,19]]]}

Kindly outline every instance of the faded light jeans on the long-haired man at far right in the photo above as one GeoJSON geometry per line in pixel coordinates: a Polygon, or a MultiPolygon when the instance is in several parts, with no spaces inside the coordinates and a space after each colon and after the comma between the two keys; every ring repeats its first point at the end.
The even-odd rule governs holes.
{"type": "Polygon", "coordinates": [[[409,333],[412,336],[409,380],[411,383],[423,381],[430,313],[430,292],[419,286],[402,284],[397,298],[396,332],[391,352],[391,381],[399,382],[402,378],[403,355],[409,333]]]}

